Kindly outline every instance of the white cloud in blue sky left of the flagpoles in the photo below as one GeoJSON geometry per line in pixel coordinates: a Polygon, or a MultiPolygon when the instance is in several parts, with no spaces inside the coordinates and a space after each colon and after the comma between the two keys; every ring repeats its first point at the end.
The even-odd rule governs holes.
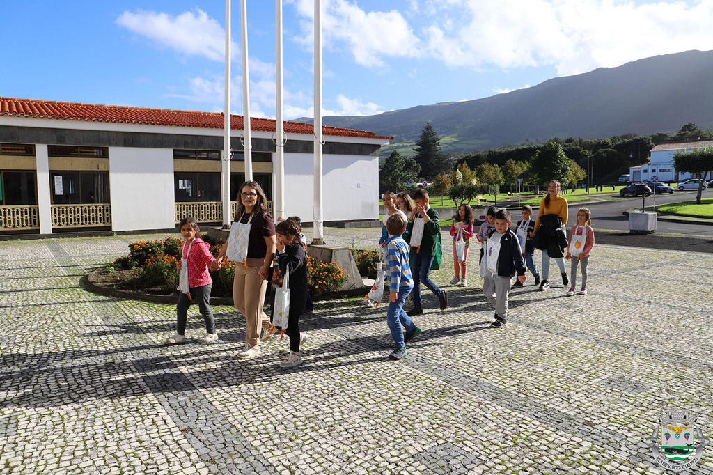
{"type": "MultiPolygon", "coordinates": [[[[205,11],[185,11],[170,16],[155,11],[124,11],[116,23],[140,34],[161,48],[171,48],[189,56],[204,56],[213,61],[225,58],[225,29],[205,11]]],[[[235,44],[232,51],[239,51],[235,44]]]]}

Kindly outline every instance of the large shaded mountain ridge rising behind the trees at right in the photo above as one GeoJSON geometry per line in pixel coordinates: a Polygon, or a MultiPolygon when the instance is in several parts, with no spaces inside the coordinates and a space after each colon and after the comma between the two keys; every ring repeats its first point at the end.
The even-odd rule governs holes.
{"type": "MultiPolygon", "coordinates": [[[[617,68],[553,78],[474,101],[416,106],[375,116],[326,116],[324,125],[394,136],[382,150],[412,155],[426,122],[444,153],[498,148],[553,137],[604,138],[713,127],[713,51],[653,56],[617,68]]],[[[312,118],[297,119],[312,122],[312,118]]]]}

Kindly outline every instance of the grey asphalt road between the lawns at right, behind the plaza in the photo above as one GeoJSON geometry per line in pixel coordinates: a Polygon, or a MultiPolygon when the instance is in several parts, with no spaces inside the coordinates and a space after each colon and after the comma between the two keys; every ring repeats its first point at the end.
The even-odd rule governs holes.
{"type": "MultiPolygon", "coordinates": [[[[567,198],[567,195],[564,195],[567,198]]],[[[677,203],[679,201],[695,200],[695,191],[676,191],[672,195],[656,195],[656,205],[667,203],[677,203]]],[[[713,189],[704,190],[702,198],[713,198],[713,189]]],[[[652,210],[653,198],[646,199],[646,209],[652,210]]],[[[586,205],[592,210],[592,226],[595,229],[608,230],[629,230],[629,218],[624,215],[624,211],[630,208],[641,208],[642,199],[639,198],[621,198],[617,201],[606,201],[603,203],[592,203],[586,205]]],[[[568,227],[574,224],[573,218],[576,216],[578,203],[571,203],[569,206],[570,220],[568,227]]],[[[688,223],[672,223],[670,221],[657,221],[656,233],[672,233],[690,236],[713,237],[713,225],[704,224],[688,224],[688,223]]]]}

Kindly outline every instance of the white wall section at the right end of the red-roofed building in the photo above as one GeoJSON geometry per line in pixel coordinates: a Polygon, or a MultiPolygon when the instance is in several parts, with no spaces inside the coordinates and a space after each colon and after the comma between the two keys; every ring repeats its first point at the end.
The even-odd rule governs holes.
{"type": "MultiPolygon", "coordinates": [[[[323,159],[325,221],[379,218],[379,157],[327,155],[323,159]]],[[[313,155],[284,154],[284,203],[287,215],[312,222],[313,155]]]]}

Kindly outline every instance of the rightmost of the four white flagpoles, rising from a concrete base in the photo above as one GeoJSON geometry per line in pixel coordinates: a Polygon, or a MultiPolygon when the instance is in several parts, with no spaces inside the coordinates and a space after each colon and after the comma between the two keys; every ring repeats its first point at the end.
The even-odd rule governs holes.
{"type": "Polygon", "coordinates": [[[312,244],[324,244],[322,142],[322,1],[314,0],[314,237],[312,244]]]}

